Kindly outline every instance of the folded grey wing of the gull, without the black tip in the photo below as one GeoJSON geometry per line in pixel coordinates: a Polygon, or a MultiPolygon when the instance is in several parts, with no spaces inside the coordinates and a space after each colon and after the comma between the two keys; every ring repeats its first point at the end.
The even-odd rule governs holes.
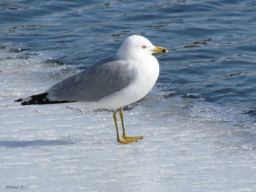
{"type": "Polygon", "coordinates": [[[45,92],[49,93],[49,100],[92,102],[122,90],[131,80],[127,63],[113,56],[63,79],[45,92]]]}

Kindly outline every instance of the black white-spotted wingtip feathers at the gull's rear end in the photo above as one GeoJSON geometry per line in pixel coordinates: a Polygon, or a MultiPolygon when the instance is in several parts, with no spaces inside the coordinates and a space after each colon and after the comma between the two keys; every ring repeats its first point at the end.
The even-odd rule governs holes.
{"type": "Polygon", "coordinates": [[[74,101],[67,101],[67,100],[49,100],[47,99],[48,94],[49,93],[40,93],[38,95],[31,95],[30,97],[17,99],[15,100],[15,102],[22,102],[21,103],[22,106],[74,102],[74,101]]]}

